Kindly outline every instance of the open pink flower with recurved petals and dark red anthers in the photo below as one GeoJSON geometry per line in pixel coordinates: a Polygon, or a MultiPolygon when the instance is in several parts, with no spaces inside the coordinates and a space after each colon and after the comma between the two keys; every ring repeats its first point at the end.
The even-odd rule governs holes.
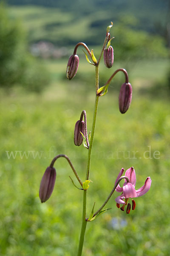
{"type": "MultiPolygon", "coordinates": [[[[116,178],[115,184],[117,182],[117,180],[119,180],[119,178],[122,176],[124,172],[124,168],[121,169],[121,171],[119,172],[119,175],[116,178]]],[[[115,201],[116,201],[116,205],[118,208],[120,208],[120,204],[123,204],[123,206],[120,208],[122,211],[124,211],[125,209],[125,205],[127,205],[127,209],[126,209],[126,213],[128,214],[130,212],[130,208],[131,205],[130,203],[127,204],[127,201],[129,198],[136,198],[139,197],[141,195],[144,195],[147,193],[147,191],[150,189],[150,185],[151,185],[151,178],[147,177],[144,185],[136,190],[135,189],[135,185],[136,185],[136,174],[135,174],[135,169],[133,167],[130,167],[129,169],[127,169],[127,171],[125,172],[125,176],[128,177],[129,182],[127,182],[127,180],[125,179],[125,183],[123,184],[123,187],[121,187],[119,184],[116,187],[116,191],[117,192],[122,192],[121,195],[119,195],[115,201]]],[[[135,201],[132,199],[132,209],[135,209],[135,201]]]]}

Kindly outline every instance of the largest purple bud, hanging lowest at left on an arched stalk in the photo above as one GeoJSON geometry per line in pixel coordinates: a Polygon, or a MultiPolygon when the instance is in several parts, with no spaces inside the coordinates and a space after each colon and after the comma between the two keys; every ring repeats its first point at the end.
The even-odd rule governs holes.
{"type": "Polygon", "coordinates": [[[48,200],[48,198],[50,198],[54,189],[55,180],[56,180],[55,168],[47,167],[40,183],[39,196],[40,196],[41,203],[44,203],[45,201],[48,200]]]}

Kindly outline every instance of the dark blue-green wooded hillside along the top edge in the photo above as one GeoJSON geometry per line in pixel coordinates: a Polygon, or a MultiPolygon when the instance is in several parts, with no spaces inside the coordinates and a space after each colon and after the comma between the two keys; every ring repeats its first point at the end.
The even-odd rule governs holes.
{"type": "Polygon", "coordinates": [[[124,15],[132,15],[139,20],[136,24],[137,29],[156,32],[155,23],[165,22],[170,0],[7,0],[7,3],[13,6],[55,7],[74,14],[75,18],[91,15],[96,20],[92,26],[100,26],[101,17],[98,12],[101,11],[105,11],[107,22],[108,20],[119,20],[124,15]]]}

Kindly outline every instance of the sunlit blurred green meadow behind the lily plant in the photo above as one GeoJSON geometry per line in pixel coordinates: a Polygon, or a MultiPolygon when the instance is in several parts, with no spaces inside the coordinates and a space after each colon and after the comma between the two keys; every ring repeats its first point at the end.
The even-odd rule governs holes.
{"type": "MultiPolygon", "coordinates": [[[[93,67],[80,60],[77,76],[71,81],[63,80],[66,64],[67,60],[45,62],[52,83],[40,95],[21,89],[12,89],[8,93],[1,90],[0,255],[76,255],[82,191],[71,183],[69,175],[76,184],[77,181],[65,159],[59,159],[55,164],[57,180],[51,198],[41,204],[38,196],[42,175],[55,154],[67,154],[81,179],[85,179],[87,150],[82,145],[74,145],[73,133],[83,109],[87,112],[88,131],[91,130],[94,71],[89,74],[93,67]],[[9,157],[11,152],[14,157],[9,157]]],[[[88,223],[83,255],[168,256],[169,98],[168,93],[167,96],[161,97],[158,93],[153,97],[140,91],[141,87],[163,80],[168,61],[154,64],[144,61],[129,66],[120,63],[114,68],[124,67],[124,64],[130,71],[133,100],[127,113],[120,114],[114,83],[108,94],[99,99],[88,214],[94,201],[96,209],[105,201],[122,167],[135,168],[136,189],[144,184],[147,176],[152,178],[152,185],[146,195],[136,198],[136,209],[129,215],[116,208],[114,199],[118,193],[113,194],[107,204],[112,209],[88,223]],[[135,157],[133,151],[138,151],[135,157]],[[160,155],[156,155],[159,159],[154,157],[155,151],[159,151],[160,155]]],[[[103,72],[102,66],[101,71],[103,81],[111,70],[103,72]]],[[[122,82],[123,78],[119,76],[116,80],[119,87],[122,82]]]]}

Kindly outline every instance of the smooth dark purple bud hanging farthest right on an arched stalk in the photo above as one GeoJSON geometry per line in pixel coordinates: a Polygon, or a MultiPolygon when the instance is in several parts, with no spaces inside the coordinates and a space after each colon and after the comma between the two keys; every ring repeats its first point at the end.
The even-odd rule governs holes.
{"type": "Polygon", "coordinates": [[[126,113],[128,108],[130,107],[130,103],[132,100],[132,86],[130,83],[122,84],[119,93],[119,110],[122,114],[126,113]]]}

